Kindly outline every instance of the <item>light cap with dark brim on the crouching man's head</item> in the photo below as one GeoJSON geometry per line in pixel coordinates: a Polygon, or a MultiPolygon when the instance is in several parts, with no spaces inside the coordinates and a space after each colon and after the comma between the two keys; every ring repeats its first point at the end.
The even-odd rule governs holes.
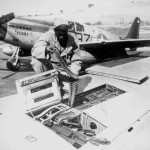
{"type": "Polygon", "coordinates": [[[56,19],[54,22],[54,30],[57,31],[68,31],[69,25],[66,20],[63,19],[56,19]]]}

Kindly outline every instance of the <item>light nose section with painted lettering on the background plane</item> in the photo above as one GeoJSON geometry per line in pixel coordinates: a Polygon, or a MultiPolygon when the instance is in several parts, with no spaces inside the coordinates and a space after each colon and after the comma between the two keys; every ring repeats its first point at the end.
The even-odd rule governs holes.
{"type": "Polygon", "coordinates": [[[15,18],[7,23],[7,36],[3,40],[24,49],[30,49],[41,34],[49,29],[53,27],[15,18]]]}

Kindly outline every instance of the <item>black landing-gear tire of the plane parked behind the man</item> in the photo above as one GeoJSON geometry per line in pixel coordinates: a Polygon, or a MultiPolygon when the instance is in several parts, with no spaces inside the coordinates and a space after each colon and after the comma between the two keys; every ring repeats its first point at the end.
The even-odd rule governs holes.
{"type": "Polygon", "coordinates": [[[8,70],[11,71],[18,71],[20,69],[20,60],[18,59],[18,62],[16,65],[14,65],[14,62],[16,61],[15,57],[11,57],[8,59],[7,63],[6,63],[6,67],[8,70]]]}

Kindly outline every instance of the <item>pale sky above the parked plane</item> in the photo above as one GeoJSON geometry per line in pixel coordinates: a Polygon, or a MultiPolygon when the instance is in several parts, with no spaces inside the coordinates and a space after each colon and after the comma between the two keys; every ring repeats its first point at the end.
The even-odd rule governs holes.
{"type": "MultiPolygon", "coordinates": [[[[0,15],[64,14],[74,18],[139,16],[150,20],[150,0],[0,0],[0,15]],[[88,7],[88,4],[93,4],[88,7]]],[[[92,21],[92,20],[91,20],[92,21]]]]}

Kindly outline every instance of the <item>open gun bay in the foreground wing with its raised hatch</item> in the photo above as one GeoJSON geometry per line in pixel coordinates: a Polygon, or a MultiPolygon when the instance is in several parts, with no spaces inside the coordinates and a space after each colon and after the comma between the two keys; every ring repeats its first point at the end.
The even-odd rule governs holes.
{"type": "MultiPolygon", "coordinates": [[[[114,86],[103,84],[75,95],[75,98],[71,99],[73,105],[70,106],[68,97],[72,95],[67,93],[67,98],[63,98],[55,70],[17,80],[16,86],[18,94],[25,102],[26,114],[56,132],[76,148],[91,142],[107,128],[101,123],[100,118],[96,120],[84,110],[125,93],[114,86]]],[[[96,139],[94,142],[109,143],[106,139],[96,139]]]]}

